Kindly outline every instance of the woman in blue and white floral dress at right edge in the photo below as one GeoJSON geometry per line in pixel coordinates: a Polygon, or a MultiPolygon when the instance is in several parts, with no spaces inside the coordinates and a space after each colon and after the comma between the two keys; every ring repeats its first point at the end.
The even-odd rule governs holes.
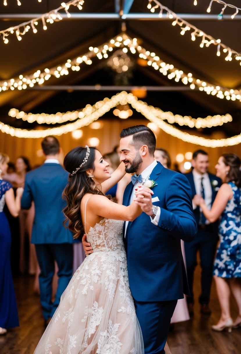
{"type": "Polygon", "coordinates": [[[221,318],[214,331],[241,327],[241,160],[235,154],[223,154],[215,166],[216,176],[223,181],[212,209],[208,210],[200,198],[200,207],[205,217],[219,224],[220,243],[214,261],[213,277],[216,283],[221,318]],[[230,293],[233,294],[239,314],[233,322],[230,315],[230,293]]]}

